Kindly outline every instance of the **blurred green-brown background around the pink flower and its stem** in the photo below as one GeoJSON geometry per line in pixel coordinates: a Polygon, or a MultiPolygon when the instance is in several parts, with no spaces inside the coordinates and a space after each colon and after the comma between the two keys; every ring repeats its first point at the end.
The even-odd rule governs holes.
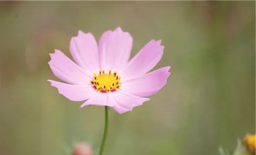
{"type": "Polygon", "coordinates": [[[0,2],[0,154],[97,152],[104,108],[59,95],[48,62],[78,30],[120,26],[132,56],[162,39],[166,86],[143,106],[110,111],[104,154],[219,154],[255,133],[255,2],[0,2]]]}

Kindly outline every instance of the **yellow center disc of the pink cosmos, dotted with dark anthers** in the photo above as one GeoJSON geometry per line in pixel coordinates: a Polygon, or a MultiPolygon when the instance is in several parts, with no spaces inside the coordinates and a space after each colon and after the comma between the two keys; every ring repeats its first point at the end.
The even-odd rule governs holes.
{"type": "Polygon", "coordinates": [[[120,87],[120,76],[114,71],[111,73],[111,69],[108,73],[104,70],[99,70],[99,74],[93,73],[94,78],[90,80],[91,84],[97,91],[107,92],[114,91],[120,87]]]}

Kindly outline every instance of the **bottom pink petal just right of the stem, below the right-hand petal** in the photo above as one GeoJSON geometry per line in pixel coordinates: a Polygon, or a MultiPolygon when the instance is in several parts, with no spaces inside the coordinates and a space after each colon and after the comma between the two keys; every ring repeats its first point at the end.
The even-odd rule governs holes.
{"type": "Polygon", "coordinates": [[[115,106],[113,109],[119,114],[127,111],[132,111],[134,107],[141,106],[144,101],[150,100],[150,98],[138,97],[129,93],[125,93],[121,90],[117,90],[112,93],[115,99],[115,106]]]}

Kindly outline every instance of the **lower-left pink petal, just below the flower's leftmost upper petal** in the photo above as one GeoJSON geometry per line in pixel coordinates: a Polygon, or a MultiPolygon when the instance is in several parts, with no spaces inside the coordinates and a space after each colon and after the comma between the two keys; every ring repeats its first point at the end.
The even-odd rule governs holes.
{"type": "Polygon", "coordinates": [[[71,85],[53,80],[48,81],[51,82],[51,86],[58,89],[60,94],[73,101],[87,100],[96,94],[96,90],[91,85],[71,85]]]}

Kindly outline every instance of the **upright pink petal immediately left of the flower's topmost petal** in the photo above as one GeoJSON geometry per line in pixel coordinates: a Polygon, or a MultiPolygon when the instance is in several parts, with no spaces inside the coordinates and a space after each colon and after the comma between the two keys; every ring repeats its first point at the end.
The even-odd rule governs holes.
{"type": "Polygon", "coordinates": [[[88,69],[90,74],[98,72],[99,57],[98,46],[91,33],[78,31],[77,37],[72,37],[70,41],[70,51],[75,62],[84,69],[88,69]]]}

